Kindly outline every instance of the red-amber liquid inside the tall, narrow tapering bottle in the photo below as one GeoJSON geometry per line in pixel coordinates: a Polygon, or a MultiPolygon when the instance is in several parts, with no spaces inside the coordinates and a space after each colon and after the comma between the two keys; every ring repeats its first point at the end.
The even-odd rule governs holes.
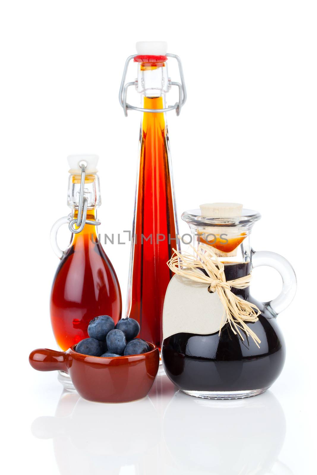
{"type": "MultiPolygon", "coordinates": [[[[144,97],[144,108],[162,109],[163,98],[144,97]]],[[[177,246],[164,114],[144,113],[141,133],[129,317],[140,323],[141,338],[161,347],[164,296],[173,276],[166,263],[177,246]],[[142,243],[142,235],[152,235],[152,242],[142,243]]]]}

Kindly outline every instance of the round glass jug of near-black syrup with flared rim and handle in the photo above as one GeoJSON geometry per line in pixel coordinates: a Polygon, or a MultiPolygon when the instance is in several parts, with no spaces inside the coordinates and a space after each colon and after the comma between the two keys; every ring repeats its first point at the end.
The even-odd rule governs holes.
{"type": "MultiPolygon", "coordinates": [[[[201,210],[182,214],[191,229],[193,247],[198,249],[200,244],[211,247],[224,264],[226,281],[249,276],[254,267],[270,266],[280,273],[283,286],[270,302],[254,299],[249,286],[231,287],[232,294],[255,304],[260,311],[257,321],[249,323],[259,338],[259,345],[241,327],[243,338],[234,333],[230,322],[225,323],[220,332],[180,331],[163,340],[162,360],[167,376],[186,394],[201,398],[245,398],[271,386],[285,361],[284,338],[276,317],[288,307],[296,292],[296,276],[289,262],[274,252],[254,251],[251,247],[251,230],[260,214],[242,209],[242,205],[238,205],[239,215],[208,214],[209,208],[223,211],[226,205],[234,204],[202,205],[201,210]]],[[[192,284],[191,280],[188,282],[192,284]]],[[[212,292],[208,284],[207,292],[212,292]]],[[[212,317],[212,310],[209,311],[212,317]]],[[[199,318],[199,314],[193,316],[199,318]]]]}

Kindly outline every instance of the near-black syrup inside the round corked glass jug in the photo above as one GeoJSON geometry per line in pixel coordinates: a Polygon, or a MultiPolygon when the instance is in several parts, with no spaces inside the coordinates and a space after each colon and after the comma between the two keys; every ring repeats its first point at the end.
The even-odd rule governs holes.
{"type": "MultiPolygon", "coordinates": [[[[226,264],[225,276],[232,280],[250,274],[250,262],[226,264]]],[[[169,378],[188,391],[244,391],[269,387],[279,376],[285,361],[285,346],[276,320],[247,289],[231,289],[258,306],[259,321],[248,323],[259,337],[258,348],[242,333],[235,335],[227,323],[221,334],[176,333],[162,345],[162,361],[169,378]]]]}

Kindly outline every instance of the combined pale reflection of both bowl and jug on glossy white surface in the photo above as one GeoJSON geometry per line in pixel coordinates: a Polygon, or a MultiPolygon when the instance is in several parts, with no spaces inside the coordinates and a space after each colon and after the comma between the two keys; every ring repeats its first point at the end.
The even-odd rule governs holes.
{"type": "Polygon", "coordinates": [[[248,399],[198,399],[158,376],[149,397],[99,404],[63,392],[55,417],[32,424],[52,438],[61,475],[291,475],[277,461],[286,424],[269,391],[248,399]]]}

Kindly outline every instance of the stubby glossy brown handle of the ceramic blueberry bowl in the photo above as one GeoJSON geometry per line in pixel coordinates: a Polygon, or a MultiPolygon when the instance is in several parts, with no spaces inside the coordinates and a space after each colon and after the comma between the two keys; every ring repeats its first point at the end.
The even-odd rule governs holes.
{"type": "Polygon", "coordinates": [[[69,354],[48,350],[48,348],[38,348],[29,355],[29,363],[38,371],[66,371],[68,373],[69,354]]]}

